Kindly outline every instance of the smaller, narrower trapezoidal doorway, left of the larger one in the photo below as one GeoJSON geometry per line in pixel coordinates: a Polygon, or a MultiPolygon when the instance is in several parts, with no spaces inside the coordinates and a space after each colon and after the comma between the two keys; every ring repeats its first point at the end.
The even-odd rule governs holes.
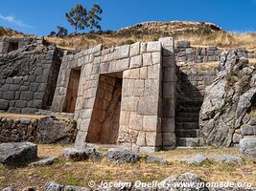
{"type": "Polygon", "coordinates": [[[81,68],[72,69],[69,76],[67,94],[64,101],[63,112],[74,113],[78,97],[81,68]]]}

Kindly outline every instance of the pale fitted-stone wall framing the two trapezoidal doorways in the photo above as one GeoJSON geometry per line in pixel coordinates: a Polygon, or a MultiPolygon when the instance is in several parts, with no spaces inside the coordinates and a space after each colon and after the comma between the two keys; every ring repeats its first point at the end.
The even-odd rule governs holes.
{"type": "MultiPolygon", "coordinates": [[[[173,57],[173,39],[162,42],[134,43],[102,50],[96,46],[81,53],[65,55],[62,59],[58,84],[55,92],[52,110],[61,112],[68,95],[68,83],[72,69],[81,67],[78,97],[76,99],[75,119],[78,121],[78,136],[76,147],[86,145],[88,132],[98,129],[92,120],[94,116],[97,94],[101,91],[100,75],[122,73],[122,96],[120,124],[118,130],[118,144],[130,150],[153,152],[160,148],[174,147],[174,124],[162,132],[162,78],[166,82],[165,88],[174,83],[170,77],[174,61],[162,63],[162,50],[166,57],[173,57]],[[162,65],[165,64],[165,76],[162,76],[162,65]],[[171,64],[168,66],[168,64],[171,64]],[[170,129],[168,129],[170,128],[170,129]],[[163,137],[164,136],[164,137],[163,137]],[[163,139],[165,143],[163,144],[163,139]],[[168,139],[169,138],[169,139],[168,139]]],[[[171,91],[171,90],[170,90],[171,91]]],[[[111,94],[109,94],[111,95],[111,94]]],[[[174,106],[174,96],[168,93],[165,97],[165,111],[174,106]]],[[[106,109],[107,110],[107,109],[106,109]]],[[[101,111],[104,113],[104,111],[101,111]]],[[[165,118],[174,118],[173,114],[165,114],[165,118]],[[170,115],[169,115],[170,114],[170,115]]],[[[104,119],[104,118],[101,118],[104,119]]],[[[173,120],[174,121],[174,120],[173,120]]],[[[99,123],[98,123],[99,125],[99,123]]],[[[101,125],[101,129],[103,125],[101,125]]],[[[175,139],[175,138],[174,138],[175,139]]]]}

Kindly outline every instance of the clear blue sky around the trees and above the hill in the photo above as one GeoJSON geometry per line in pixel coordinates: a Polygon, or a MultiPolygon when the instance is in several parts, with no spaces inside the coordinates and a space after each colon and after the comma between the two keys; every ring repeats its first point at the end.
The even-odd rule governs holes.
{"type": "Polygon", "coordinates": [[[0,26],[47,35],[58,25],[73,32],[65,12],[81,3],[103,8],[103,30],[118,30],[143,21],[205,21],[226,31],[256,31],[256,0],[2,0],[0,26]]]}

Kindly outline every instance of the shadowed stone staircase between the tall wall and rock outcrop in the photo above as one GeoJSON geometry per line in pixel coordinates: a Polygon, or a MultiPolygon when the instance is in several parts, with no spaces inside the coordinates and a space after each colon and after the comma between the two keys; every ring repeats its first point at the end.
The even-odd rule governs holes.
{"type": "Polygon", "coordinates": [[[202,144],[198,118],[201,101],[187,100],[180,103],[175,117],[176,145],[182,147],[198,147],[202,144]]]}

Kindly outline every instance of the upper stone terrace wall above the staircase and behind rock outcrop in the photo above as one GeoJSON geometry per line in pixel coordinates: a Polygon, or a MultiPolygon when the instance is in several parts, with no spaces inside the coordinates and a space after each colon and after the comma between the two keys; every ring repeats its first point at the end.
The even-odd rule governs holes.
{"type": "MultiPolygon", "coordinates": [[[[256,58],[256,53],[248,52],[244,47],[237,48],[239,56],[256,58]]],[[[175,56],[178,66],[187,63],[220,61],[221,50],[216,46],[191,47],[189,41],[175,41],[175,56]]]]}

